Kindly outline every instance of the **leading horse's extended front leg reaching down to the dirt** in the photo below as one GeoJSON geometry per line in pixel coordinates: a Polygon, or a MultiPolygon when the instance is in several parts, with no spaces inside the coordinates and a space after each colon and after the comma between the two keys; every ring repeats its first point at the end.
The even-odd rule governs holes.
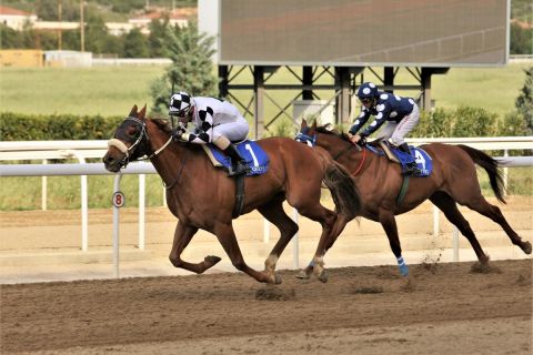
{"type": "Polygon", "coordinates": [[[272,275],[272,274],[269,274],[268,272],[258,272],[247,265],[247,263],[244,262],[244,258],[242,257],[241,248],[237,243],[235,232],[233,231],[231,221],[229,223],[218,222],[214,226],[214,234],[217,235],[217,239],[219,240],[220,244],[222,245],[225,253],[230,257],[231,263],[238,270],[250,275],[251,277],[255,278],[259,282],[264,282],[270,284],[281,283],[281,278],[275,274],[272,275]]]}

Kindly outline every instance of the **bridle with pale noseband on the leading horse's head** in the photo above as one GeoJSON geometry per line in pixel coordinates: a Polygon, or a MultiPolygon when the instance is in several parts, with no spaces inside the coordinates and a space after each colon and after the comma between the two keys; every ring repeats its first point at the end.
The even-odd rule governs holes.
{"type": "MultiPolygon", "coordinates": [[[[148,141],[150,138],[148,136],[147,133],[147,123],[134,116],[128,116],[124,119],[122,124],[124,124],[127,121],[134,121],[138,126],[140,126],[140,133],[137,138],[131,139],[130,136],[125,135],[123,132],[117,132],[114,136],[108,141],[108,146],[114,146],[117,148],[124,156],[120,160],[117,161],[117,164],[120,165],[120,168],[125,168],[130,160],[133,159],[135,151],[139,146],[145,146],[148,145],[148,141]],[[128,148],[124,142],[131,142],[133,143],[128,148]]],[[[152,159],[153,156],[157,156],[159,153],[161,153],[170,143],[172,142],[172,136],[169,138],[169,140],[157,151],[154,151],[152,154],[147,155],[145,153],[141,156],[138,156],[134,159],[135,161],[143,161],[143,160],[149,160],[152,159]]]]}

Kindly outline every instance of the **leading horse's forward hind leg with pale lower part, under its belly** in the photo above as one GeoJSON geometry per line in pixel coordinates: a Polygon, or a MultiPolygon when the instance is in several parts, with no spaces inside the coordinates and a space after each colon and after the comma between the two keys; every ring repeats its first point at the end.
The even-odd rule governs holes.
{"type": "Polygon", "coordinates": [[[299,227],[283,210],[283,201],[273,201],[258,209],[258,211],[280,231],[280,239],[264,261],[264,272],[271,275],[276,284],[281,283],[281,277],[275,274],[275,264],[281,253],[285,250],[291,239],[296,234],[299,227]]]}

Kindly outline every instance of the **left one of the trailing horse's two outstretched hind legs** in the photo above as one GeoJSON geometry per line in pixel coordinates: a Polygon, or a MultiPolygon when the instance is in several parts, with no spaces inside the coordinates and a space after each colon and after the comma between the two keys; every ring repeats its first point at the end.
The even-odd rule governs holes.
{"type": "Polygon", "coordinates": [[[483,252],[477,237],[470,227],[469,221],[466,221],[461,214],[455,201],[444,192],[435,192],[430,196],[430,201],[438,206],[444,213],[446,219],[469,240],[480,263],[486,264],[489,262],[489,256],[483,252]]]}

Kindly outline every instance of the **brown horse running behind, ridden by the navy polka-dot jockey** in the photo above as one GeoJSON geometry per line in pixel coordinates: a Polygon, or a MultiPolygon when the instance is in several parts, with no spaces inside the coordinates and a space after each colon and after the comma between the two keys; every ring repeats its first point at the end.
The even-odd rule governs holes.
{"type": "MultiPolygon", "coordinates": [[[[363,203],[360,215],[381,223],[402,275],[408,275],[409,268],[402,257],[394,216],[413,210],[428,199],[444,212],[446,219],[469,240],[480,263],[487,263],[489,256],[481,248],[474,232],[459,211],[456,203],[500,224],[513,244],[522,248],[524,253],[531,254],[531,243],[522,241],[505,221],[500,209],[486,202],[481,194],[475,164],[486,171],[495,196],[505,203],[503,180],[497,169],[497,161],[479,150],[466,145],[440,143],[420,146],[430,154],[433,173],[426,178],[410,178],[408,191],[399,204],[398,196],[403,183],[400,164],[370,152],[365,146],[354,145],[344,133],[331,131],[328,126],[316,126],[316,122],[309,126],[303,120],[296,140],[308,143],[308,145],[325,149],[335,161],[352,173],[363,203]]],[[[333,236],[321,245],[324,245],[326,251],[334,242],[335,237],[333,236]]],[[[311,270],[312,264],[305,268],[305,274],[309,274],[311,270]]],[[[302,273],[302,275],[305,274],[302,273]]]]}

